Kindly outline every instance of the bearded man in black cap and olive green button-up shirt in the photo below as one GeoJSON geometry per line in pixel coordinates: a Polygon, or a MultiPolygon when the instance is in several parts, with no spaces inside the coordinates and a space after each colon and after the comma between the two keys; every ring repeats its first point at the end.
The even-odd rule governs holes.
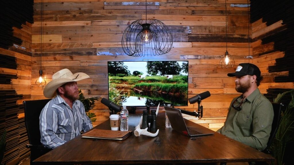
{"type": "Polygon", "coordinates": [[[217,132],[262,151],[267,146],[273,122],[273,106],[258,90],[263,77],[256,65],[241,63],[235,73],[235,90],[225,125],[217,132]]]}

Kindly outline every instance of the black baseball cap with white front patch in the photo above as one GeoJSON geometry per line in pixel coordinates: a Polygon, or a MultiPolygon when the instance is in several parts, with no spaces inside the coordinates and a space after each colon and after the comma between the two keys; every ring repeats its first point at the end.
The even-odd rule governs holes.
{"type": "Polygon", "coordinates": [[[257,77],[260,77],[260,70],[254,64],[241,63],[237,66],[235,73],[228,73],[229,77],[245,76],[245,75],[256,75],[257,77]]]}

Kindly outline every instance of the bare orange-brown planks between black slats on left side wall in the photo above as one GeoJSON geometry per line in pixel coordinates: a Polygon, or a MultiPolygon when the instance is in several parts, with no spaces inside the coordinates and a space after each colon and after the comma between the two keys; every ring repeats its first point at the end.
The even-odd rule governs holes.
{"type": "MultiPolygon", "coordinates": [[[[9,49],[0,48],[0,54],[8,55],[16,59],[16,70],[0,68],[1,74],[14,75],[17,79],[11,79],[11,84],[1,84],[0,90],[16,90],[17,94],[23,95],[17,104],[24,100],[31,100],[31,71],[32,71],[32,25],[26,22],[22,28],[13,27],[13,35],[21,39],[22,43],[14,44],[9,49]]],[[[23,113],[23,110],[22,112],[23,113]]],[[[23,117],[23,115],[21,115],[23,117]]]]}

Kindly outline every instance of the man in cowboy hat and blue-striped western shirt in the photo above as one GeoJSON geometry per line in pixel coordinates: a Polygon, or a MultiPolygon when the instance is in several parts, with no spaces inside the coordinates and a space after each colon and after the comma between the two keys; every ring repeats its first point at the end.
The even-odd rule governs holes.
{"type": "Polygon", "coordinates": [[[79,98],[77,81],[89,78],[85,73],[72,74],[69,69],[54,73],[52,81],[43,91],[53,98],[40,115],[41,143],[47,148],[56,148],[93,128],[79,98]]]}

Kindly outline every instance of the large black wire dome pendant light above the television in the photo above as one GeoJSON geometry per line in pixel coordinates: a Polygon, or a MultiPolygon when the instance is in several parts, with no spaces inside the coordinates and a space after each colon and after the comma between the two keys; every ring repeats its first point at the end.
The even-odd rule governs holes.
{"type": "Polygon", "coordinates": [[[173,46],[173,36],[168,27],[156,19],[132,22],[123,32],[121,46],[123,51],[134,57],[145,55],[162,55],[168,53],[173,46]]]}

